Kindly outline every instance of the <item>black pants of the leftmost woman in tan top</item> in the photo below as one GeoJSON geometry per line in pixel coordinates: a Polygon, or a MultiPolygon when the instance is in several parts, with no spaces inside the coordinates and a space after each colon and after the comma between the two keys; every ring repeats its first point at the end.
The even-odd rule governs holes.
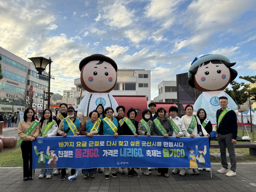
{"type": "Polygon", "coordinates": [[[32,141],[23,141],[21,143],[21,153],[23,159],[23,178],[32,177],[32,141]]]}

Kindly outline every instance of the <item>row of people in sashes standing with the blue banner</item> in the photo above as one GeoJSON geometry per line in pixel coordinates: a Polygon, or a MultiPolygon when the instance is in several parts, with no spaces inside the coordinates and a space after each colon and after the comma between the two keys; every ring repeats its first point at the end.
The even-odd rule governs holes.
{"type": "MultiPolygon", "coordinates": [[[[228,99],[224,96],[219,98],[221,109],[216,112],[217,118],[217,138],[219,141],[221,152],[221,163],[223,168],[218,170],[218,173],[226,173],[227,176],[236,175],[236,158],[234,144],[237,138],[237,123],[233,118],[235,112],[230,110],[228,105],[228,99]],[[226,147],[230,154],[231,169],[228,169],[226,160],[226,147]]],[[[102,104],[99,104],[95,110],[89,113],[89,120],[82,125],[80,120],[74,116],[75,109],[68,107],[66,103],[60,104],[60,113],[52,117],[51,110],[45,109],[43,111],[40,121],[35,120],[35,112],[32,108],[27,108],[24,113],[24,120],[19,123],[18,135],[21,138],[19,144],[22,150],[23,157],[23,180],[32,180],[32,141],[39,137],[51,137],[51,136],[89,136],[95,135],[113,135],[115,137],[119,135],[133,135],[133,136],[173,136],[180,137],[209,137],[212,132],[212,124],[207,119],[207,114],[203,108],[199,109],[196,115],[193,115],[193,106],[187,105],[185,108],[186,115],[179,118],[177,116],[178,108],[171,106],[169,108],[170,117],[166,117],[167,111],[165,108],[158,108],[156,110],[156,104],[149,103],[149,109],[145,109],[142,112],[142,119],[138,122],[135,120],[137,112],[135,109],[130,108],[126,113],[124,106],[118,106],[116,108],[117,117],[114,117],[114,109],[107,107],[104,109],[102,104]]],[[[234,116],[235,117],[235,116],[234,116]]],[[[61,173],[60,180],[65,180],[65,175],[68,174],[67,168],[57,169],[56,161],[58,157],[54,154],[53,149],[47,149],[47,155],[43,154],[43,151],[37,152],[38,155],[38,167],[41,168],[39,178],[51,178],[52,175],[58,175],[61,173]],[[46,169],[44,162],[44,155],[46,159],[50,159],[49,168],[46,169]],[[41,158],[40,158],[41,157],[41,158]],[[40,165],[40,166],[39,166],[40,165]],[[55,169],[53,173],[53,169],[55,169]]],[[[192,149],[191,149],[192,150],[192,149]]],[[[203,152],[202,152],[203,153],[203,152]]],[[[191,153],[193,155],[193,153],[191,153]]],[[[196,157],[197,158],[197,157],[196,157]]],[[[190,164],[196,163],[196,158],[190,156],[190,164]]],[[[206,168],[204,158],[198,159],[200,168],[188,169],[188,173],[199,174],[198,170],[210,169],[206,168]]],[[[197,166],[196,166],[197,167],[197,166]]],[[[122,174],[126,174],[126,168],[92,168],[82,169],[84,179],[94,178],[98,169],[98,173],[105,174],[105,179],[109,179],[109,175],[113,178],[117,177],[119,171],[122,174]]],[[[151,168],[141,168],[144,175],[149,175],[151,168]]],[[[168,168],[157,168],[158,176],[168,177],[168,168]]],[[[127,168],[128,176],[138,175],[135,168],[127,168]]],[[[75,169],[71,169],[71,175],[75,175],[75,169]]],[[[172,173],[179,175],[185,175],[185,168],[174,168],[172,173]]],[[[75,177],[76,178],[76,177],[75,177]]],[[[74,179],[75,179],[74,178],[74,179]]]]}

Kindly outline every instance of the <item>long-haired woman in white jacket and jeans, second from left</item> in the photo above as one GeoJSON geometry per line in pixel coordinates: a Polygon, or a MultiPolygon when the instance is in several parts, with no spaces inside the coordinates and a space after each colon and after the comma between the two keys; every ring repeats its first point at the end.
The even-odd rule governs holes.
{"type": "MultiPolygon", "coordinates": [[[[39,136],[37,136],[37,139],[39,137],[46,138],[46,137],[56,136],[58,125],[57,125],[56,121],[54,121],[52,119],[53,119],[53,117],[52,117],[51,110],[45,109],[43,111],[42,118],[40,119],[40,122],[38,125],[39,129],[40,129],[40,133],[39,133],[39,136]]],[[[47,154],[49,154],[49,149],[47,150],[47,152],[48,152],[47,154]]],[[[55,163],[55,168],[56,168],[56,161],[58,160],[58,157],[54,158],[54,160],[51,160],[49,162],[49,168],[54,167],[54,163],[55,163]]],[[[45,175],[46,175],[47,179],[51,178],[51,176],[53,175],[53,169],[41,169],[39,178],[44,178],[45,175]]]]}

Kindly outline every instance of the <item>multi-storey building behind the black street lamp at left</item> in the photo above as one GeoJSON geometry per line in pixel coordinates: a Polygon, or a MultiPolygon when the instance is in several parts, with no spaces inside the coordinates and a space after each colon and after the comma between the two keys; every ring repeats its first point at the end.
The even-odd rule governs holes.
{"type": "MultiPolygon", "coordinates": [[[[46,73],[46,72],[44,72],[46,73]]],[[[48,92],[48,78],[43,75],[39,75],[35,69],[35,65],[32,62],[27,64],[27,81],[26,81],[26,95],[30,95],[30,86],[33,86],[33,103],[32,107],[35,108],[36,113],[43,112],[47,108],[47,101],[43,100],[44,91],[48,92]]],[[[46,98],[46,94],[45,94],[46,98]]]]}

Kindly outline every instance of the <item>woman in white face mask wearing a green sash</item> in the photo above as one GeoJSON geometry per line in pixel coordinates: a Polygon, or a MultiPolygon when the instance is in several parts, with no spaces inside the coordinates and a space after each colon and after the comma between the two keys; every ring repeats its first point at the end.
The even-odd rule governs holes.
{"type": "MultiPolygon", "coordinates": [[[[139,135],[142,136],[149,136],[151,135],[151,130],[150,127],[153,123],[152,120],[150,120],[149,118],[152,117],[152,112],[149,109],[145,109],[142,112],[142,120],[140,120],[139,125],[138,125],[138,133],[139,135]]],[[[148,170],[148,168],[141,168],[142,173],[144,175],[149,175],[151,174],[151,172],[148,170]]]]}

